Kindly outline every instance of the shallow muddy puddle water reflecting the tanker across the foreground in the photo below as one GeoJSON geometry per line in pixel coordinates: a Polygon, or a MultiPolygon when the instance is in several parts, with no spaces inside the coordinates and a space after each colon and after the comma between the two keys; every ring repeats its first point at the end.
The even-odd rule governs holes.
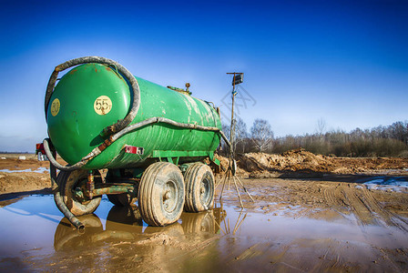
{"type": "Polygon", "coordinates": [[[362,226],[352,214],[245,217],[224,206],[148,227],[137,207],[103,199],[100,219],[80,217],[87,228],[79,233],[59,221],[53,203],[52,196],[32,196],[0,207],[0,271],[15,271],[20,262],[32,271],[408,271],[406,217],[398,227],[362,226]]]}

